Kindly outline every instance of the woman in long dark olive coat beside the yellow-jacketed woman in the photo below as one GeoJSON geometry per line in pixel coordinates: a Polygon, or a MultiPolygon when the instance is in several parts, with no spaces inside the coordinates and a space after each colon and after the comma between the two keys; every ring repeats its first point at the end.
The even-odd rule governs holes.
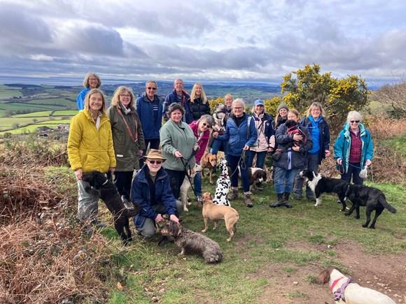
{"type": "Polygon", "coordinates": [[[116,89],[107,115],[110,118],[117,161],[114,182],[123,202],[127,203],[130,200],[134,169],[139,169],[139,157],[146,149],[134,94],[130,88],[120,86],[116,89]]]}

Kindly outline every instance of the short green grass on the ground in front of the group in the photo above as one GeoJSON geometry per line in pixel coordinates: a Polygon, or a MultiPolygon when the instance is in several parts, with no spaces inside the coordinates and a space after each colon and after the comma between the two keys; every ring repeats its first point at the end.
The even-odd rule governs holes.
{"type": "MultiPolygon", "coordinates": [[[[162,303],[263,303],[265,289],[280,284],[268,275],[258,275],[269,265],[287,275],[300,268],[310,269],[308,275],[297,278],[298,284],[308,286],[320,268],[334,264],[346,269],[337,259],[337,244],[356,243],[367,254],[402,254],[406,249],[405,190],[391,184],[376,186],[385,191],[398,213],[383,212],[377,229],[372,230],[361,226],[364,211],[360,220],[345,217],[332,196],[324,196],[319,208],[309,201],[293,201],[292,209],[271,209],[268,204],[275,195],[269,184],[265,191],[253,195],[254,208],[246,208],[241,199],[232,204],[240,219],[231,243],[225,241],[224,223],[207,232],[223,249],[225,258],[218,265],[207,265],[199,256],[177,256],[179,249],[173,244],[157,247],[156,240],[137,237],[132,247],[117,256],[126,286],[123,291],[112,286],[109,303],[149,303],[153,297],[162,303]],[[319,251],[311,245],[330,245],[332,249],[319,251]]],[[[213,192],[212,187],[204,190],[213,192]]],[[[193,206],[182,217],[188,229],[203,229],[200,208],[193,206]]],[[[116,238],[113,229],[103,233],[116,238]]],[[[283,303],[292,299],[302,302],[306,293],[293,286],[286,291],[287,302],[283,303]]]]}

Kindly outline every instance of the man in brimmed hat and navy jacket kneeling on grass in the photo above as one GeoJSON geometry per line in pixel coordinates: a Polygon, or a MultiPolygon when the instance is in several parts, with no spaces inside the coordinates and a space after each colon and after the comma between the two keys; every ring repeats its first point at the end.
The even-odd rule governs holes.
{"type": "Polygon", "coordinates": [[[164,221],[162,215],[179,223],[179,212],[183,205],[172,194],[169,177],[162,163],[166,160],[160,150],[151,149],[146,163],[132,181],[131,199],[140,206],[139,215],[134,217],[134,225],[141,236],[151,238],[155,234],[155,222],[164,221]]]}

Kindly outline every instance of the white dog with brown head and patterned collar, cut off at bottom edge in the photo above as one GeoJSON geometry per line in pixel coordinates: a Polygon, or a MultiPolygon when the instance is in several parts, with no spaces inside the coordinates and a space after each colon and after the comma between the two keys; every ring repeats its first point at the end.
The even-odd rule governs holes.
{"type": "Polygon", "coordinates": [[[367,287],[360,287],[352,283],[349,277],[346,277],[335,267],[329,267],[318,275],[317,282],[325,284],[334,294],[335,303],[345,304],[395,304],[391,298],[379,291],[367,287]]]}

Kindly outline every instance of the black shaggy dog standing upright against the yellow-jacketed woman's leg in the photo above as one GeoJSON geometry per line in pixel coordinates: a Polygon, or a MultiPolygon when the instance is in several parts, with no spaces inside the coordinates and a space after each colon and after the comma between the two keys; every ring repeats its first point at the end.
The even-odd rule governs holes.
{"type": "Polygon", "coordinates": [[[134,217],[139,213],[139,205],[134,204],[134,210],[125,208],[121,196],[117,191],[116,185],[107,178],[106,174],[99,171],[83,173],[82,180],[88,182],[92,187],[86,187],[86,191],[91,193],[97,191],[99,197],[104,201],[109,208],[114,219],[114,227],[118,232],[124,245],[132,241],[130,223],[128,218],[134,217]],[[125,233],[127,231],[127,233],[125,233]]]}

